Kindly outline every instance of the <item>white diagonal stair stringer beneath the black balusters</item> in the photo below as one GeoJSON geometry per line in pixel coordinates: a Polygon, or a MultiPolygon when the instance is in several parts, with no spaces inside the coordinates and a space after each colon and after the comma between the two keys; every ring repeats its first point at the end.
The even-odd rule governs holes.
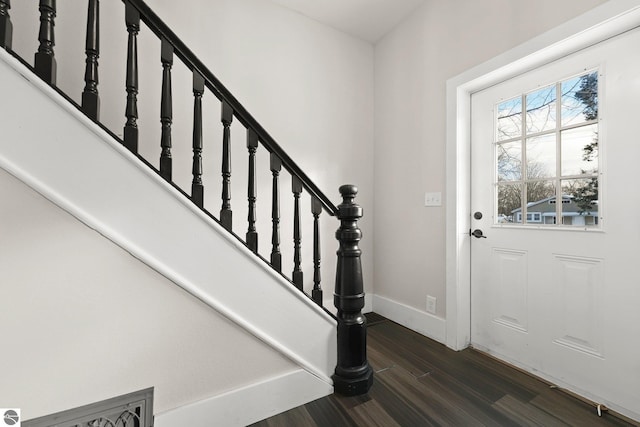
{"type": "Polygon", "coordinates": [[[330,393],[335,319],[3,49],[0,93],[1,168],[330,393]]]}

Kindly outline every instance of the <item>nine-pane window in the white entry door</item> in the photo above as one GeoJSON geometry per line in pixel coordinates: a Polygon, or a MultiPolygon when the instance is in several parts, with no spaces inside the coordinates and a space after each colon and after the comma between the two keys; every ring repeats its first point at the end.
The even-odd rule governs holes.
{"type": "Polygon", "coordinates": [[[500,101],[495,222],[598,227],[598,71],[500,101]]]}

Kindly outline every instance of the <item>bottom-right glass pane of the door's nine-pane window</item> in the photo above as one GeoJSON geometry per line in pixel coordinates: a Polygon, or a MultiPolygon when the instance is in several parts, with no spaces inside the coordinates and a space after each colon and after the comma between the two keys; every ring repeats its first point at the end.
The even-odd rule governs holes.
{"type": "Polygon", "coordinates": [[[562,224],[598,225],[598,178],[562,181],[562,224]]]}

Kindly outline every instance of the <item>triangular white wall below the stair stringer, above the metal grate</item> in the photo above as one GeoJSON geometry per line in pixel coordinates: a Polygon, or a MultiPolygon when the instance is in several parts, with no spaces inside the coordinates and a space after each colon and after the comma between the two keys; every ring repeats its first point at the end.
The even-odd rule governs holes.
{"type": "Polygon", "coordinates": [[[151,386],[159,413],[296,370],[2,169],[0,198],[0,396],[25,419],[151,386]]]}

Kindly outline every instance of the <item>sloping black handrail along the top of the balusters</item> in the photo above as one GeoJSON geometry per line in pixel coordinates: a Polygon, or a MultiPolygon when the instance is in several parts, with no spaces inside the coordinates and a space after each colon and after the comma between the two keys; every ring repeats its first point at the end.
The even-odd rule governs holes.
{"type": "Polygon", "coordinates": [[[146,26],[160,39],[166,39],[174,48],[175,55],[189,68],[190,71],[198,72],[204,77],[205,85],[213,92],[220,101],[228,103],[233,109],[234,116],[246,128],[252,129],[270,153],[275,154],[282,161],[282,166],[296,176],[302,186],[311,196],[320,200],[325,211],[331,216],[335,216],[338,208],[331,200],[314,184],[302,169],[289,157],[289,155],[278,145],[275,139],[258,123],[258,121],[244,108],[235,96],[213,75],[213,73],[196,57],[196,55],[184,44],[182,40],[167,26],[167,24],[155,14],[153,10],[143,0],[123,0],[130,3],[140,12],[140,18],[146,26]]]}

